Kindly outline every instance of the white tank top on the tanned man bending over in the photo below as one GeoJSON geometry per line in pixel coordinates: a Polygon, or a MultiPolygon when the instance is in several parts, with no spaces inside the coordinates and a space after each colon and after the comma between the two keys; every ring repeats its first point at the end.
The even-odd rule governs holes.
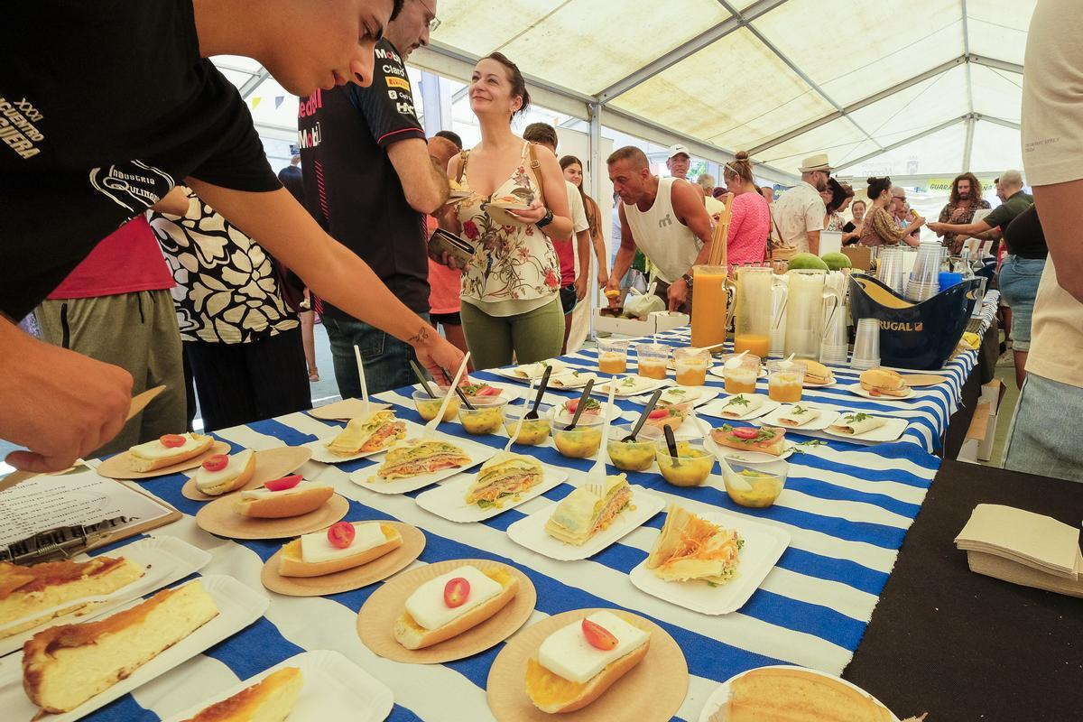
{"type": "Polygon", "coordinates": [[[703,242],[674,212],[670,194],[675,180],[658,179],[658,195],[649,210],[641,211],[635,205],[624,206],[624,216],[636,246],[658,270],[658,278],[667,284],[688,273],[703,248],[703,242]]]}

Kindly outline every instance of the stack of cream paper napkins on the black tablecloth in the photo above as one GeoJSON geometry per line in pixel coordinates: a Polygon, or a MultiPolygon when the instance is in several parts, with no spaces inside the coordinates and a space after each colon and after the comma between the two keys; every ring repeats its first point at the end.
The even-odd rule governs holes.
{"type": "Polygon", "coordinates": [[[978,504],[955,537],[971,572],[1060,594],[1083,596],[1080,529],[1049,516],[978,504]]]}

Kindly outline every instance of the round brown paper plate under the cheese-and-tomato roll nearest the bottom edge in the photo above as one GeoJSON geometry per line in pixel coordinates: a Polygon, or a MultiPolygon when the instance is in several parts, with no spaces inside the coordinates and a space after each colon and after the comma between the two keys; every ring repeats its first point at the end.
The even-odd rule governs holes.
{"type": "Polygon", "coordinates": [[[677,642],[650,619],[617,609],[564,612],[524,629],[493,660],[485,684],[488,708],[499,722],[644,722],[668,720],[688,694],[688,662],[677,642]],[[612,612],[651,632],[642,661],[583,709],[559,716],[543,712],[526,694],[526,661],[542,642],[566,625],[596,612],[612,612]]]}

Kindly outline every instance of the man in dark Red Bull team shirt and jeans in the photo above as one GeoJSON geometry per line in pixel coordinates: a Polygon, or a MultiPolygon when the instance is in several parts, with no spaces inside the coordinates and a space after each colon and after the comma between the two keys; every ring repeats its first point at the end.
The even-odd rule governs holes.
{"type": "MultiPolygon", "coordinates": [[[[373,84],[317,90],[300,99],[297,119],[309,210],[425,318],[429,261],[423,214],[447,200],[448,188],[447,176],[429,158],[404,63],[415,48],[429,43],[435,9],[435,0],[406,0],[376,44],[373,84]]],[[[326,301],[323,319],[343,398],[361,395],[354,346],[370,393],[415,381],[409,344],[326,301]]]]}

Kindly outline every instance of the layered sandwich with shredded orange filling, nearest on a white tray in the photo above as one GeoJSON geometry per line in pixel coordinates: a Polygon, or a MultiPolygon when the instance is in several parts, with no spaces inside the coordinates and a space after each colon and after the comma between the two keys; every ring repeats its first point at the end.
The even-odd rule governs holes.
{"type": "Polygon", "coordinates": [[[735,530],[670,504],[662,534],[647,557],[647,568],[665,581],[695,579],[725,585],[736,576],[743,546],[735,530]]]}

